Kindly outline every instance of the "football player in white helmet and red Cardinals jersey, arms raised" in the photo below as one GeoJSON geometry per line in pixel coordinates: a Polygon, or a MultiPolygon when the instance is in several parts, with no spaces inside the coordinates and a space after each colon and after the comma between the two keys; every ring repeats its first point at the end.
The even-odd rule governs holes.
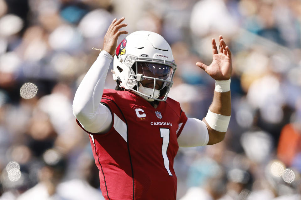
{"type": "MultiPolygon", "coordinates": [[[[216,80],[213,102],[203,120],[187,118],[167,97],[177,69],[172,50],[154,32],[129,34],[114,19],[103,50],[79,85],[73,113],[89,133],[105,199],[176,199],[173,160],[178,147],[211,145],[224,139],[231,115],[231,52],[222,36],[219,52],[212,39],[213,61],[196,65],[216,80]],[[116,90],[103,89],[114,58],[116,90]]],[[[181,66],[180,66],[181,67],[181,66]]]]}

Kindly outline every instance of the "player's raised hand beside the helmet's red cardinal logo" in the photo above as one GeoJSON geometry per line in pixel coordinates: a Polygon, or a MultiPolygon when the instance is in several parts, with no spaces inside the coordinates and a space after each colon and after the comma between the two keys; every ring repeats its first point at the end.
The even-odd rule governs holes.
{"type": "Polygon", "coordinates": [[[124,20],[124,17],[121,17],[119,20],[116,18],[113,20],[111,25],[108,28],[107,33],[103,39],[103,50],[111,54],[113,57],[115,55],[115,50],[117,47],[117,40],[121,34],[127,34],[129,32],[124,30],[119,30],[122,27],[126,27],[128,24],[121,23],[124,20]]]}

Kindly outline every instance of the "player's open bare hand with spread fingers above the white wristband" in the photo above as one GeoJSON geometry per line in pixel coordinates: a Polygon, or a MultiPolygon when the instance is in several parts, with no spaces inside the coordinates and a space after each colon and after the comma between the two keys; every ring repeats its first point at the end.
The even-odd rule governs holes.
{"type": "Polygon", "coordinates": [[[226,46],[223,40],[223,36],[219,36],[219,53],[215,40],[212,38],[212,54],[213,60],[209,66],[199,62],[196,65],[205,70],[215,80],[228,80],[232,73],[232,55],[230,48],[226,46]]]}

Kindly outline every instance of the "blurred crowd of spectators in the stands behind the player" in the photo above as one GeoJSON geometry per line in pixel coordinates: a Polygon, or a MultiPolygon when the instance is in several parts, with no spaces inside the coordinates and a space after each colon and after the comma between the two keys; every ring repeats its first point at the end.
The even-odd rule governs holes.
{"type": "Polygon", "coordinates": [[[195,66],[211,63],[211,38],[223,35],[233,54],[226,138],[179,148],[177,199],[300,200],[300,0],[0,0],[0,199],[103,199],[72,101],[92,47],[123,16],[127,31],[171,45],[169,97],[188,117],[202,119],[213,97],[195,66]]]}

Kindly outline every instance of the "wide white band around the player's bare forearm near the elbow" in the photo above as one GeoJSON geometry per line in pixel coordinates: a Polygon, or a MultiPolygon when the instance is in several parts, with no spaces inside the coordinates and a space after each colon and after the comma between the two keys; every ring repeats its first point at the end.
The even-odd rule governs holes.
{"type": "Polygon", "coordinates": [[[226,132],[230,122],[230,118],[231,116],[212,113],[208,109],[208,113],[205,117],[205,120],[212,129],[219,132],[226,132]]]}

